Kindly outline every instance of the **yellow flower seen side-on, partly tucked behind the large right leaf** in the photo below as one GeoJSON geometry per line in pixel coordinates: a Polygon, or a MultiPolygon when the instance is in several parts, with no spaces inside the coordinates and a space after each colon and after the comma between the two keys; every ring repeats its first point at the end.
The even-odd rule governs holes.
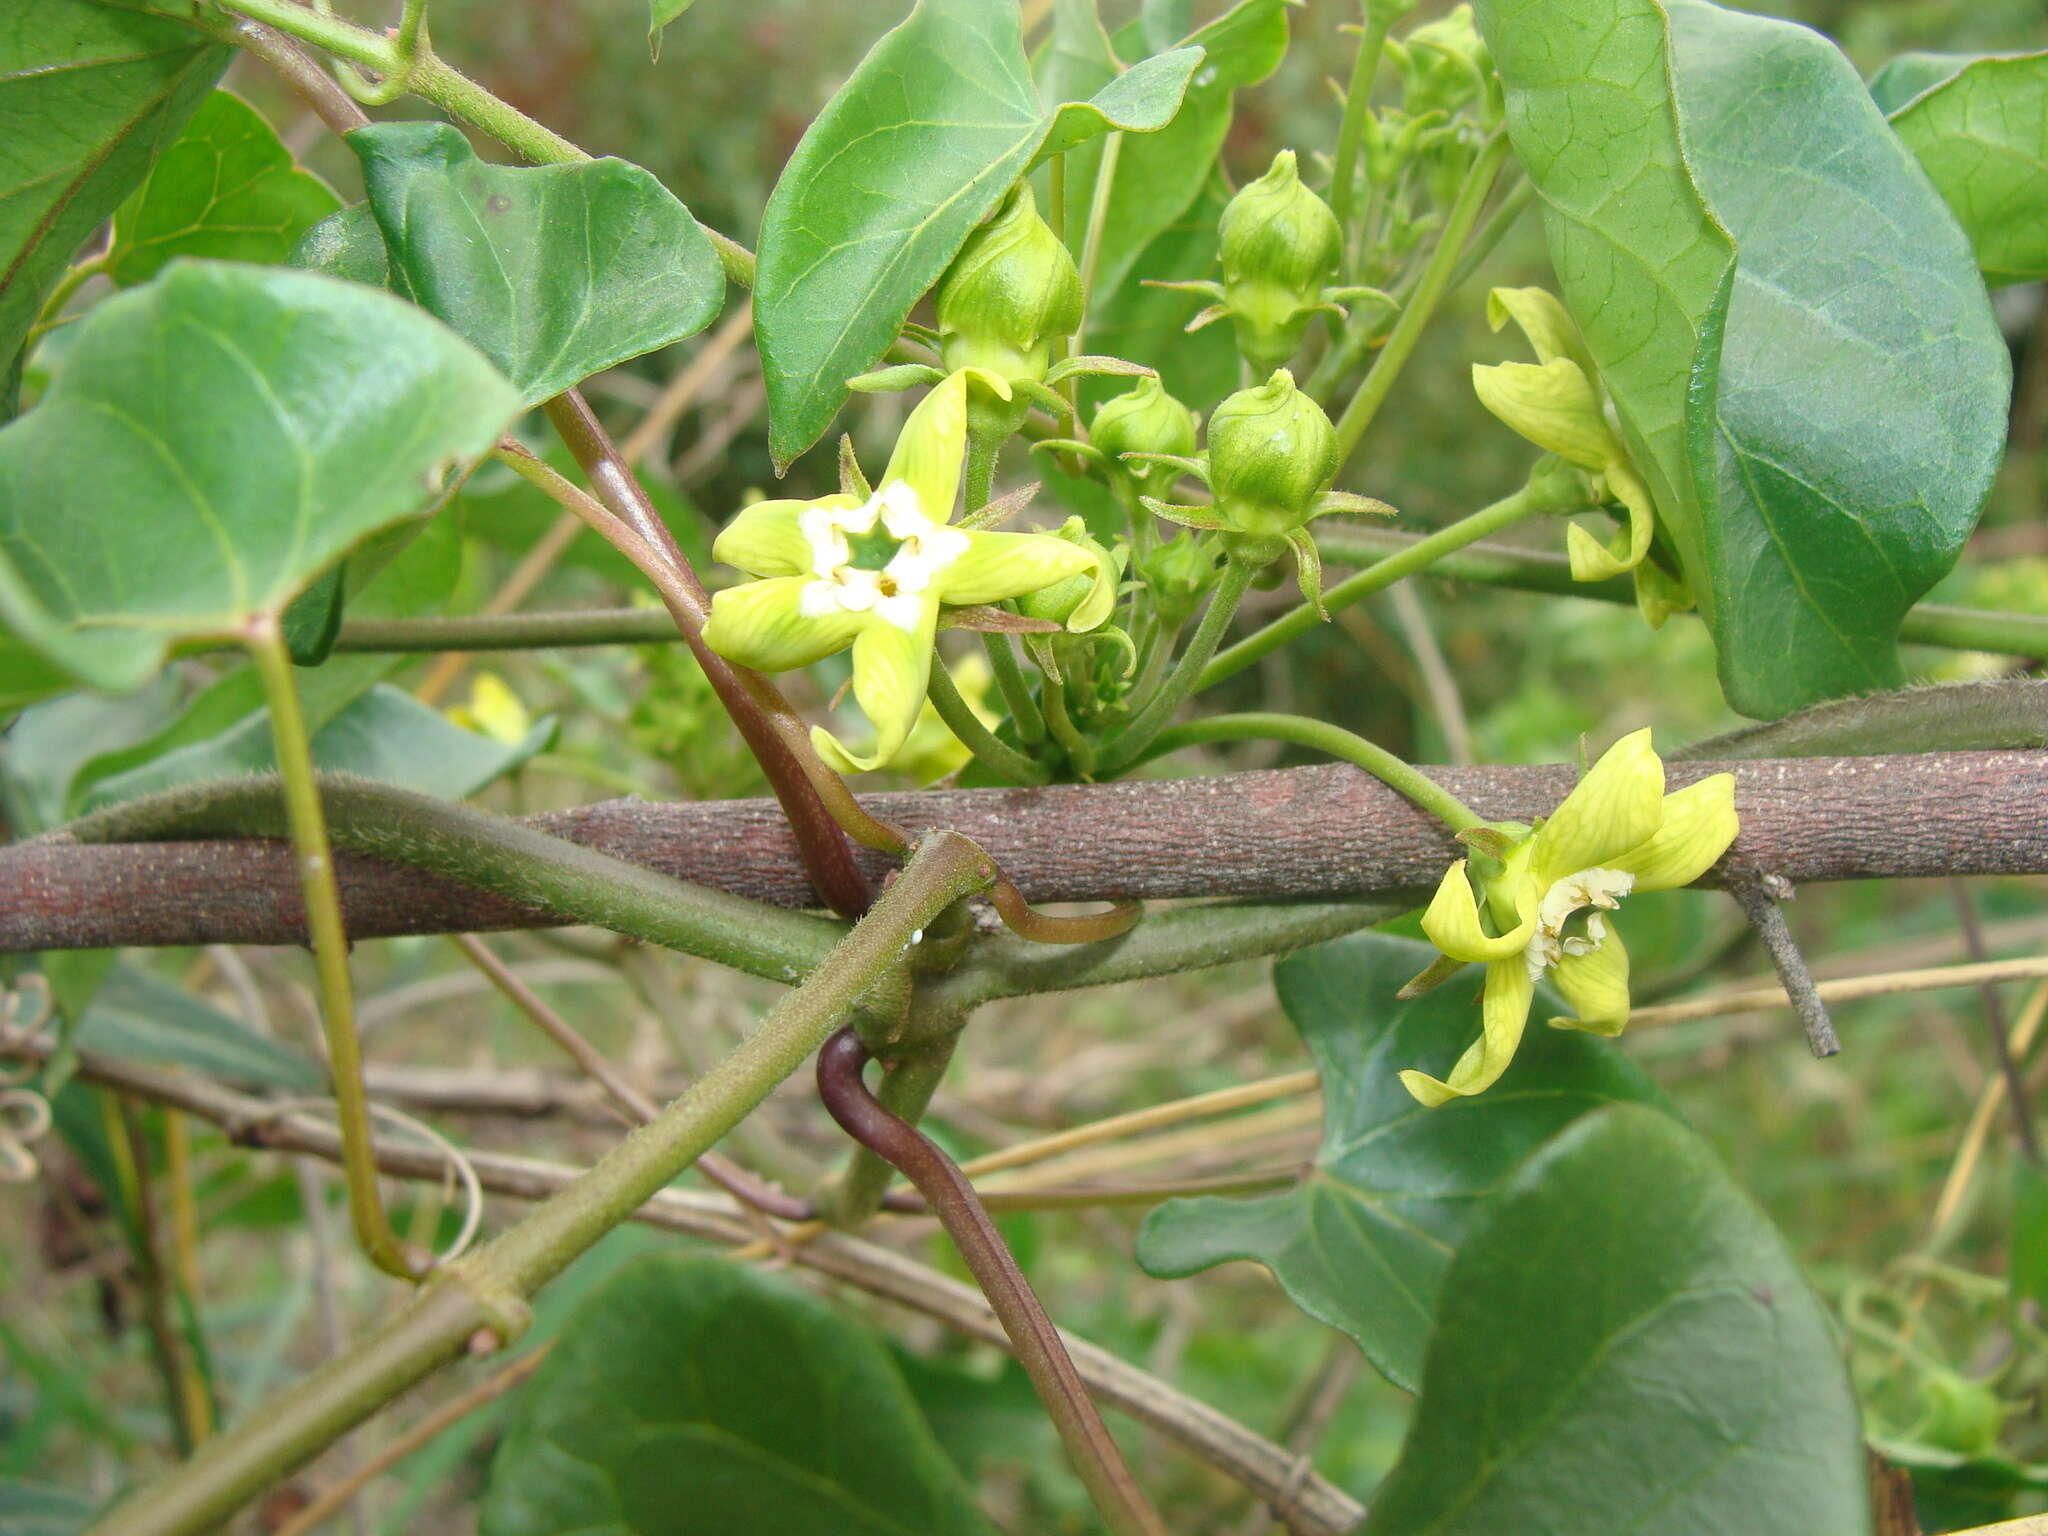
{"type": "Polygon", "coordinates": [[[1651,553],[1657,514],[1649,485],[1608,420],[1599,371],[1579,328],[1556,295],[1544,289],[1493,289],[1487,324],[1499,330],[1509,319],[1528,336],[1536,362],[1473,365],[1479,403],[1538,449],[1599,475],[1608,496],[1628,510],[1628,528],[1606,545],[1577,522],[1567,526],[1573,580],[1604,582],[1632,571],[1651,553]]]}

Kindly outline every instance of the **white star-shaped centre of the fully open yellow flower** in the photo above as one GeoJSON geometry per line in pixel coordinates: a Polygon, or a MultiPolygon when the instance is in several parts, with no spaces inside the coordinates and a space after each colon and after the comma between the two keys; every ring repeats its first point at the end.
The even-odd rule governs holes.
{"type": "Polygon", "coordinates": [[[805,508],[797,526],[811,545],[813,580],[799,604],[807,618],[874,612],[897,629],[915,631],[926,590],[967,553],[967,535],[928,516],[918,492],[901,479],[883,485],[864,506],[805,508]],[[887,551],[887,559],[877,567],[879,551],[887,551]]]}

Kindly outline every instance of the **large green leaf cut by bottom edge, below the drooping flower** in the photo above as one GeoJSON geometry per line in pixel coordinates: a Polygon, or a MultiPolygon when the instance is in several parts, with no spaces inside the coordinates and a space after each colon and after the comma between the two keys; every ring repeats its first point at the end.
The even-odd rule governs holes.
{"type": "Polygon", "coordinates": [[[1475,1223],[1366,1536],[1864,1536],[1855,1397],[1784,1239],[1712,1151],[1618,1104],[1475,1223]]]}

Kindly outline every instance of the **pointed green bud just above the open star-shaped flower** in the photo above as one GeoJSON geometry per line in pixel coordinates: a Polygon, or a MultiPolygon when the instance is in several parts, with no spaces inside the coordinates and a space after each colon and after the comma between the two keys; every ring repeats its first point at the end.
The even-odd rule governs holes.
{"type": "Polygon", "coordinates": [[[1081,274],[1018,182],[938,281],[940,350],[948,369],[1044,379],[1049,340],[1081,324],[1081,274]]]}

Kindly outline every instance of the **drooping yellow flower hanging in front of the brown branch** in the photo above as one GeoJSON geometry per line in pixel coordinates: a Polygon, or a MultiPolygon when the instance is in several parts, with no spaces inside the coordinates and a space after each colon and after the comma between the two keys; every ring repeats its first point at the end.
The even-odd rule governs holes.
{"type": "Polygon", "coordinates": [[[1663,782],[1651,733],[1624,735],[1546,821],[1493,827],[1489,872],[1462,858],[1450,866],[1421,930],[1452,961],[1487,967],[1481,1036],[1444,1079],[1401,1073],[1409,1094],[1434,1108],[1491,1087],[1522,1044],[1544,971],[1575,1010],[1552,1026],[1622,1032],[1628,950],[1606,913],[1630,893],[1692,885],[1737,831],[1733,774],[1675,795],[1663,782]]]}

